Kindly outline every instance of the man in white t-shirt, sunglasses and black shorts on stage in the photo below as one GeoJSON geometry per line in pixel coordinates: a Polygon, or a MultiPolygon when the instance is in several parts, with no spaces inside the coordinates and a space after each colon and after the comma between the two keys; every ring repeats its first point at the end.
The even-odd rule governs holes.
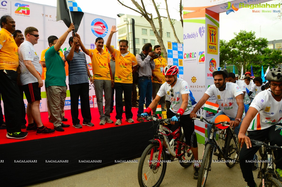
{"type": "Polygon", "coordinates": [[[41,79],[42,67],[39,56],[33,47],[38,43],[39,39],[37,28],[27,27],[25,29],[25,39],[26,41],[19,46],[18,54],[21,69],[20,79],[28,102],[28,126],[26,131],[37,131],[37,135],[52,134],[55,130],[43,126],[39,110],[43,81],[41,79]]]}

